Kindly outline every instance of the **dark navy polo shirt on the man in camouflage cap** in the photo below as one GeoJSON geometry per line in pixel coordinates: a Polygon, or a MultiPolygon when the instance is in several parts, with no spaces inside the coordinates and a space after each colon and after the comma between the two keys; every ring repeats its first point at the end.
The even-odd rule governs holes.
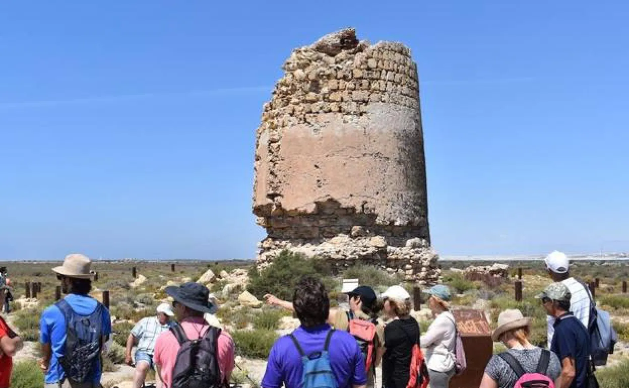
{"type": "Polygon", "coordinates": [[[554,324],[555,335],[550,350],[563,364],[566,357],[574,358],[575,375],[569,388],[586,388],[589,368],[589,335],[587,329],[572,313],[565,313],[554,324]]]}

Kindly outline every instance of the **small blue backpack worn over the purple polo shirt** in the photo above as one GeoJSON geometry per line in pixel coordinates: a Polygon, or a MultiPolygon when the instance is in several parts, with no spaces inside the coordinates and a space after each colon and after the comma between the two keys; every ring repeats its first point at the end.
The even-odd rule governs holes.
{"type": "Polygon", "coordinates": [[[338,388],[337,377],[332,372],[330,355],[328,355],[328,346],[330,346],[333,332],[334,329],[328,332],[322,352],[315,352],[309,355],[306,355],[301,346],[299,346],[297,338],[292,334],[289,335],[295,343],[299,355],[301,355],[301,361],[304,366],[299,388],[338,388]]]}

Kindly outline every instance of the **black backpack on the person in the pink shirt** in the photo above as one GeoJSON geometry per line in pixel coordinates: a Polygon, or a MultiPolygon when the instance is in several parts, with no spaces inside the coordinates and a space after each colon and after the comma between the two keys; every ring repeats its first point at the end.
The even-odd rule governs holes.
{"type": "Polygon", "coordinates": [[[172,371],[172,388],[226,387],[218,367],[219,328],[209,326],[197,340],[189,340],[181,325],[170,328],[179,342],[179,352],[172,371]]]}

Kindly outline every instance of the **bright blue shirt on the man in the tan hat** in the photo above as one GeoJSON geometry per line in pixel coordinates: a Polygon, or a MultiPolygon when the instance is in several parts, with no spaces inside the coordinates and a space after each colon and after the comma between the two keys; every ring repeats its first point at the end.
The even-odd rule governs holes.
{"type": "MultiPolygon", "coordinates": [[[[72,310],[79,315],[89,315],[96,309],[96,299],[91,296],[69,294],[65,301],[70,304],[72,310]]],[[[109,310],[103,309],[103,335],[111,334],[111,318],[109,310]]],[[[54,384],[65,378],[64,369],[59,364],[59,357],[65,352],[65,317],[61,310],[55,306],[48,306],[40,319],[40,342],[49,343],[51,348],[50,365],[46,372],[46,384],[54,384]]],[[[97,362],[94,382],[101,381],[101,363],[97,362]]]]}

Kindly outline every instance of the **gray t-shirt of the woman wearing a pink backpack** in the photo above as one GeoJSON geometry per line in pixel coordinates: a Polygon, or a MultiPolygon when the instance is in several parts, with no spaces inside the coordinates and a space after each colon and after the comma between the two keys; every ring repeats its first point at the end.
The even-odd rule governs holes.
{"type": "MultiPolygon", "coordinates": [[[[522,368],[530,373],[535,373],[540,357],[542,357],[542,348],[509,349],[507,352],[511,353],[521,363],[522,368]]],[[[485,373],[498,384],[498,388],[511,388],[518,381],[518,376],[509,367],[509,364],[498,355],[491,357],[485,367],[485,373]]],[[[548,362],[546,375],[555,381],[560,373],[559,358],[555,353],[550,352],[550,362],[548,362]]]]}

